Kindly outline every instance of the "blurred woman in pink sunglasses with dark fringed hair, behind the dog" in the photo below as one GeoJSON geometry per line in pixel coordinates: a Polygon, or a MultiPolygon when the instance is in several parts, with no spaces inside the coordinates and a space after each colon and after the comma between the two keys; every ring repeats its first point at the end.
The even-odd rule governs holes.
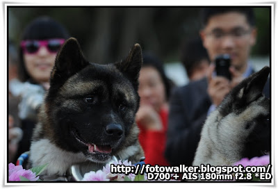
{"type": "Polygon", "coordinates": [[[19,49],[19,79],[22,83],[10,83],[10,92],[21,98],[19,118],[23,137],[16,157],[29,150],[38,108],[49,89],[56,54],[67,38],[70,35],[65,27],[50,17],[34,19],[23,31],[19,49]]]}

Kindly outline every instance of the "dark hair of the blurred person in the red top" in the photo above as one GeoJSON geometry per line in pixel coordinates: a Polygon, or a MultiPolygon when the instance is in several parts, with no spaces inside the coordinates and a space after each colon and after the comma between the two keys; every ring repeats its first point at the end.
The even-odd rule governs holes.
{"type": "Polygon", "coordinates": [[[154,67],[158,71],[165,86],[166,99],[168,100],[173,83],[170,79],[167,78],[164,72],[163,62],[151,53],[143,53],[142,67],[154,67]]]}

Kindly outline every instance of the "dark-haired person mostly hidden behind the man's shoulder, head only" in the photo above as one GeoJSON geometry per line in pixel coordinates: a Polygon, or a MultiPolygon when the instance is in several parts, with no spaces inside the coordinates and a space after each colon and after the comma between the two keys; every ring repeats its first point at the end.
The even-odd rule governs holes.
{"type": "Polygon", "coordinates": [[[190,81],[197,81],[206,76],[210,60],[200,38],[186,40],[182,45],[181,63],[190,81]]]}

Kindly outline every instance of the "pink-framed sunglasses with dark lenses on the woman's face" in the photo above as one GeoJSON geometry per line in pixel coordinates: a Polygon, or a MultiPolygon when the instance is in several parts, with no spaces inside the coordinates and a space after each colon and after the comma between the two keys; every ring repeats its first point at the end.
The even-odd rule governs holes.
{"type": "Polygon", "coordinates": [[[40,47],[47,47],[49,53],[56,54],[64,42],[64,39],[24,40],[20,43],[20,46],[24,54],[36,54],[40,47]]]}

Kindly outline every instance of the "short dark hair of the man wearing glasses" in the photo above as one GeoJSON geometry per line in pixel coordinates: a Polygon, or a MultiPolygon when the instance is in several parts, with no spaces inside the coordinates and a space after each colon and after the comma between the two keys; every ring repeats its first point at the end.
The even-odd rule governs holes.
{"type": "Polygon", "coordinates": [[[255,26],[255,15],[254,10],[252,7],[247,6],[217,6],[217,7],[206,7],[202,8],[200,12],[202,27],[206,27],[206,24],[208,24],[208,19],[210,19],[214,15],[219,15],[223,13],[230,13],[230,12],[236,12],[241,13],[245,15],[247,22],[250,24],[250,26],[255,26]]]}

